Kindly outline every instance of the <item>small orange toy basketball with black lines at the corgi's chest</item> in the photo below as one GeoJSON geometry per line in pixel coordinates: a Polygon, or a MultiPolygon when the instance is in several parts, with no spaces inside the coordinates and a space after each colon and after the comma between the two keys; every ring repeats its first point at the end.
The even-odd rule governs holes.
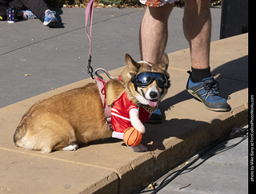
{"type": "Polygon", "coordinates": [[[142,141],[142,133],[134,127],[130,127],[123,133],[123,141],[131,147],[138,145],[142,141]]]}

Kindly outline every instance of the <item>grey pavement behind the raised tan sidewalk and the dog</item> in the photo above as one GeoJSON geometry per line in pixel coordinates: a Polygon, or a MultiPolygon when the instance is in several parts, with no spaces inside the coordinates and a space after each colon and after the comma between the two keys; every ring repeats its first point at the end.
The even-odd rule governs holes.
{"type": "MultiPolygon", "coordinates": [[[[107,70],[125,65],[125,54],[140,60],[138,33],[143,8],[95,8],[92,31],[92,66],[107,70]]],[[[0,22],[0,108],[89,77],[86,65],[89,42],[85,9],[56,10],[58,28],[38,19],[0,22]]],[[[212,41],[219,38],[221,8],[212,8],[212,41]]],[[[188,48],[182,33],[182,8],[169,20],[166,53],[188,48]]],[[[170,61],[173,62],[173,61],[170,61]]]]}

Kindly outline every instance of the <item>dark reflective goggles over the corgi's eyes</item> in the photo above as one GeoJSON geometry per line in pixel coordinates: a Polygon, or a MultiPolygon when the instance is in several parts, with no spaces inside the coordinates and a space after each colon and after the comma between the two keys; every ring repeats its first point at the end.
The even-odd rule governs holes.
{"type": "Polygon", "coordinates": [[[138,87],[146,87],[153,83],[153,81],[157,82],[157,85],[161,89],[168,88],[169,81],[168,77],[166,77],[163,73],[156,73],[156,72],[142,72],[138,73],[135,77],[131,79],[135,86],[138,87]]]}

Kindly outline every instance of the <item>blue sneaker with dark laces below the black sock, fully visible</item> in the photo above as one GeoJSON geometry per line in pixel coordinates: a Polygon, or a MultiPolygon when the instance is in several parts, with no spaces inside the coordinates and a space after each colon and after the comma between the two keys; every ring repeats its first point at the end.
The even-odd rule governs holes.
{"type": "MultiPolygon", "coordinates": [[[[191,74],[190,71],[188,73],[191,74]]],[[[218,82],[214,80],[214,77],[207,77],[202,79],[198,83],[191,81],[190,77],[186,84],[186,90],[202,101],[202,104],[206,106],[206,109],[213,111],[229,111],[230,105],[226,100],[220,96],[218,92],[218,82]]]]}

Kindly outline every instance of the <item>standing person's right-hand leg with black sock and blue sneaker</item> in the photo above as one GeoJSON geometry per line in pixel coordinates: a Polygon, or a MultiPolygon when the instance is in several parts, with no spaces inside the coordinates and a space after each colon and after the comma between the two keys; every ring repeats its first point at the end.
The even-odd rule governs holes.
{"type": "Polygon", "coordinates": [[[218,82],[210,75],[210,0],[185,0],[183,31],[190,44],[192,66],[187,91],[206,109],[229,111],[230,105],[218,91],[218,82]]]}

